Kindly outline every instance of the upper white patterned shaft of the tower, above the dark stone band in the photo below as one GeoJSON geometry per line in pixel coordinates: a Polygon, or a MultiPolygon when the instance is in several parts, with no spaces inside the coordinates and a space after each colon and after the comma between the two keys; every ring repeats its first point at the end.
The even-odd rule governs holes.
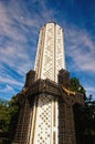
{"type": "Polygon", "coordinates": [[[63,30],[55,22],[46,23],[40,31],[34,70],[38,79],[57,82],[57,73],[65,69],[63,30]]]}

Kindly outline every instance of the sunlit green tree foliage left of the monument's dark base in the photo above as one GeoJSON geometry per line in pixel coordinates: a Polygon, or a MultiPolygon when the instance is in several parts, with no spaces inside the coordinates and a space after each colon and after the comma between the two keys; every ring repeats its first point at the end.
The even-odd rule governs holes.
{"type": "Polygon", "coordinates": [[[0,99],[0,135],[9,135],[10,125],[19,112],[18,97],[13,96],[10,101],[0,99]]]}

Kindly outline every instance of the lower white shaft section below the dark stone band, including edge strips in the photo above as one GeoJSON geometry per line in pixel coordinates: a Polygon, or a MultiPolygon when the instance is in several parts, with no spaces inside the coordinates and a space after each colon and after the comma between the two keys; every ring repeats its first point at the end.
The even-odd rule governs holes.
{"type": "Polygon", "coordinates": [[[57,144],[57,100],[48,94],[38,96],[33,110],[30,144],[57,144]]]}

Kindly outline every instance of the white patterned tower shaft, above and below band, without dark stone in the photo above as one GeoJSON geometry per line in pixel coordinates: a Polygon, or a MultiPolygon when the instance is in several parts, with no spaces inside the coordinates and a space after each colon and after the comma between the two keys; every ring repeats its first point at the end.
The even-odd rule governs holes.
{"type": "MultiPolygon", "coordinates": [[[[57,82],[61,69],[65,69],[63,30],[50,22],[40,31],[34,66],[36,79],[57,82]]],[[[59,144],[57,97],[42,93],[35,99],[30,144],[59,144]]]]}

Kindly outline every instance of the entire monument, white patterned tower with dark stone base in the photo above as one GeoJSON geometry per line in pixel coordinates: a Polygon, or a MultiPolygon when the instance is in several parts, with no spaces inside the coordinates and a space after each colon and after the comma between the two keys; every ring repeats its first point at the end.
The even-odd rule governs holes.
{"type": "Polygon", "coordinates": [[[73,105],[82,94],[70,91],[64,31],[55,22],[40,30],[34,70],[18,94],[20,115],[12,144],[76,144],[73,105]]]}

